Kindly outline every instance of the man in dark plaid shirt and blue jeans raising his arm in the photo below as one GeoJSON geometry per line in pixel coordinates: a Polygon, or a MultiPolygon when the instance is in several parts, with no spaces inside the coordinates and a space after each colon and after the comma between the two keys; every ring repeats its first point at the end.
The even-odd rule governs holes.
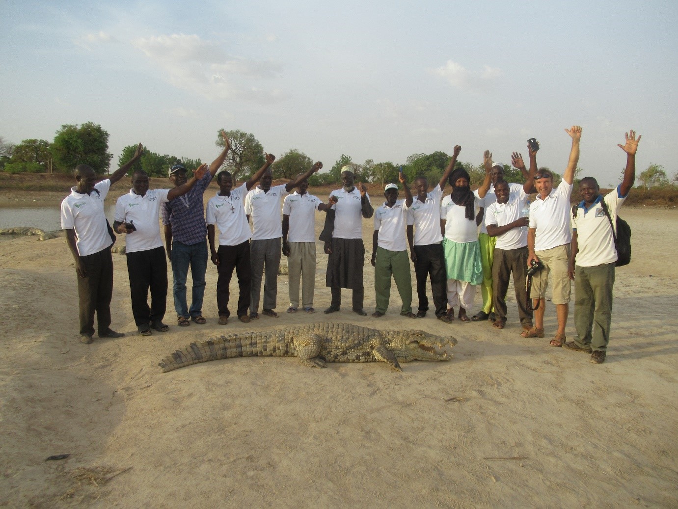
{"type": "MultiPolygon", "coordinates": [[[[224,140],[224,150],[210,165],[209,171],[195,187],[178,199],[168,201],[161,207],[163,226],[165,227],[165,245],[167,258],[172,262],[174,274],[174,310],[177,323],[180,327],[191,325],[189,319],[202,325],[206,323],[203,317],[203,296],[205,295],[205,272],[207,272],[207,227],[205,226],[205,209],[203,194],[212,182],[214,174],[224,164],[226,153],[231,148],[226,132],[220,134],[224,140]],[[191,268],[193,291],[191,308],[186,304],[186,277],[188,268],[191,268]]],[[[174,187],[186,183],[188,170],[183,165],[172,165],[169,168],[169,180],[174,187]]]]}

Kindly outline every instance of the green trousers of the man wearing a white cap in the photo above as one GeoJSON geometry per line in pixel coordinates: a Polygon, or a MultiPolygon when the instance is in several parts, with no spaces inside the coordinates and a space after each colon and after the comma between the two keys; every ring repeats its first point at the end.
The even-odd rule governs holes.
{"type": "Polygon", "coordinates": [[[391,274],[403,301],[401,312],[412,312],[412,276],[407,251],[388,251],[383,247],[377,247],[374,264],[376,310],[385,313],[388,309],[388,301],[391,300],[391,274]]]}

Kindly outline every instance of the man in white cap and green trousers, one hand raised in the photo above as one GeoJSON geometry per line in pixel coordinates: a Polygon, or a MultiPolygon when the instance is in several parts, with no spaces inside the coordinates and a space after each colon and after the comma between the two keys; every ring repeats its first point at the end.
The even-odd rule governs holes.
{"type": "Polygon", "coordinates": [[[376,293],[376,309],[372,317],[379,318],[386,314],[388,302],[391,300],[391,275],[395,280],[403,305],[400,308],[402,317],[416,318],[412,312],[412,277],[410,277],[410,260],[407,259],[405,243],[405,223],[407,207],[412,207],[412,192],[405,182],[401,169],[398,180],[403,184],[405,199],[398,199],[398,186],[386,184],[384,188],[384,205],[374,211],[374,234],[372,235],[372,266],[374,267],[374,292],[376,293]]]}

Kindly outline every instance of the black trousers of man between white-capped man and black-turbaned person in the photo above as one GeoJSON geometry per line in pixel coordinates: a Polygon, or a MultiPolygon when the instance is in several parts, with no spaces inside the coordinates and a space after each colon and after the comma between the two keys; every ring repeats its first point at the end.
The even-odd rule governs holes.
{"type": "Polygon", "coordinates": [[[441,317],[447,312],[447,275],[445,274],[445,251],[442,244],[414,246],[417,261],[414,262],[414,273],[417,277],[417,296],[419,311],[428,311],[426,296],[427,279],[431,279],[431,292],[435,305],[435,316],[441,317]]]}

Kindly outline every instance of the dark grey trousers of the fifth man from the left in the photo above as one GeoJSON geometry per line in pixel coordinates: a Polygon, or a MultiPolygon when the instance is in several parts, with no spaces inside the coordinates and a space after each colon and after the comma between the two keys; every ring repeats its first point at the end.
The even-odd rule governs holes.
{"type": "Polygon", "coordinates": [[[261,280],[264,279],[264,309],[275,309],[278,296],[278,269],[280,268],[280,252],[282,238],[252,241],[250,244],[250,261],[252,263],[252,302],[250,314],[259,311],[261,280]]]}

